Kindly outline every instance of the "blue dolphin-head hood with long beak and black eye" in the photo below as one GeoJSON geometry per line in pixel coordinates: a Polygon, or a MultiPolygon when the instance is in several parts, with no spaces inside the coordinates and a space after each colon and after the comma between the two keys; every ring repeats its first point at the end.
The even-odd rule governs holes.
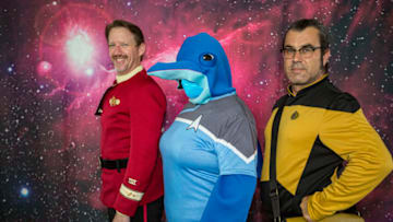
{"type": "Polygon", "coordinates": [[[193,104],[205,104],[211,97],[234,92],[227,56],[215,38],[206,33],[188,37],[176,62],[158,62],[147,70],[150,75],[166,80],[187,80],[202,87],[193,104]]]}

